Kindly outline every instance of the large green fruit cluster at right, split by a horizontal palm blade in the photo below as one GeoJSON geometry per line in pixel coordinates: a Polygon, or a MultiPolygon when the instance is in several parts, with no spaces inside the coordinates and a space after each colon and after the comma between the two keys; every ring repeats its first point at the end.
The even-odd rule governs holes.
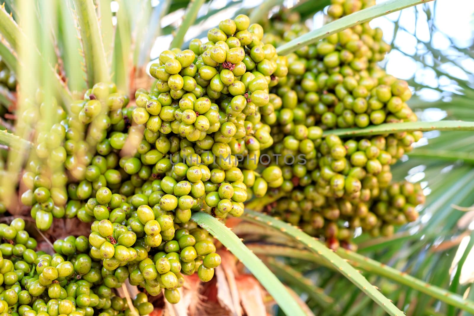
{"type": "MultiPolygon", "coordinates": [[[[373,1],[333,0],[328,15],[339,18],[371,5],[373,1]]],[[[266,28],[263,41],[273,45],[308,31],[297,13],[287,11],[276,14],[266,28]]],[[[301,47],[287,55],[288,75],[271,90],[282,102],[273,103],[278,119],[269,124],[274,144],[265,153],[272,157],[270,166],[281,168],[277,192],[283,198],[267,210],[310,235],[325,237],[332,248],[342,244],[353,249],[357,228],[374,236],[392,235],[394,225],[418,218],[417,206],[424,202],[419,185],[392,183],[390,171],[421,132],[321,138],[334,128],[417,120],[406,104],[411,97],[407,82],[377,64],[390,51],[382,35],[380,28],[364,23],[301,47]]],[[[274,193],[267,195],[280,196],[274,193]]]]}

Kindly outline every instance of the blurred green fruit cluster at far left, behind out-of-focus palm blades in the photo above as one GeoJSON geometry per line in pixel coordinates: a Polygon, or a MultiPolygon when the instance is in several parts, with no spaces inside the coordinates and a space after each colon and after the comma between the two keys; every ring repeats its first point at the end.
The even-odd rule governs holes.
{"type": "Polygon", "coordinates": [[[128,110],[122,108],[128,98],[117,93],[113,84],[97,83],[83,100],[73,102],[71,116],[55,99],[47,102],[40,90],[35,102],[39,108],[32,106],[23,113],[28,124],[36,122],[35,117],[40,120],[35,148],[22,176],[28,190],[21,202],[32,207],[36,226],[47,230],[53,218],[77,216],[79,200],[107,184],[120,185],[120,173],[114,169],[119,155],[112,152],[107,136],[128,127],[124,119],[128,110]]]}

